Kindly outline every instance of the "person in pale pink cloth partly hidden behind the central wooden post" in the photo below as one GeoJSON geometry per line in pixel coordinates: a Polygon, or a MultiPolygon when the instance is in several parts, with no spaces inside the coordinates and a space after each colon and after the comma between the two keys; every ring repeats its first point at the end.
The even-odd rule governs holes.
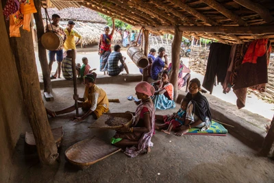
{"type": "MultiPolygon", "coordinates": [[[[181,55],[179,56],[179,73],[178,73],[178,90],[181,89],[182,87],[186,86],[186,92],[188,92],[188,85],[189,85],[189,81],[190,81],[190,69],[188,69],[187,66],[185,66],[185,64],[183,63],[183,61],[181,60],[181,55]],[[183,74],[187,73],[184,77],[183,74]]],[[[171,68],[172,68],[172,63],[169,64],[169,74],[171,74],[171,68]]]]}

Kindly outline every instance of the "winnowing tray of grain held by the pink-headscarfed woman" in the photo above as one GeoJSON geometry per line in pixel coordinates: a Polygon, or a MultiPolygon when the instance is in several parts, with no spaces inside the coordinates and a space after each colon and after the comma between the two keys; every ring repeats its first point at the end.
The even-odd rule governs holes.
{"type": "Polygon", "coordinates": [[[126,126],[132,125],[133,115],[132,113],[105,113],[95,123],[90,125],[89,128],[106,128],[116,130],[123,127],[123,124],[126,126]],[[110,124],[110,125],[108,125],[110,124]]]}

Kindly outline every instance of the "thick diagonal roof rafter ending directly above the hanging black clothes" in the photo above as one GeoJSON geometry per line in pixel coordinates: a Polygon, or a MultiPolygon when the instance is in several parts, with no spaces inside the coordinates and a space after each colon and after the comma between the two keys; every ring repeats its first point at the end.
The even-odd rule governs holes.
{"type": "Polygon", "coordinates": [[[179,8],[182,8],[184,11],[192,14],[193,16],[196,16],[198,19],[205,21],[206,23],[209,23],[210,25],[218,25],[215,21],[212,21],[211,19],[208,19],[208,17],[204,16],[194,8],[191,8],[187,4],[185,4],[182,0],[173,0],[171,1],[174,5],[177,5],[179,8]]]}

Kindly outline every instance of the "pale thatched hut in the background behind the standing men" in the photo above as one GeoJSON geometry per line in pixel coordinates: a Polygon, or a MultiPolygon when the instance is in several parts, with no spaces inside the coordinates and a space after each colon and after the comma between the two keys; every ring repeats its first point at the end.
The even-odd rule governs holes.
{"type": "MultiPolygon", "coordinates": [[[[58,8],[47,8],[47,12],[50,17],[52,14],[58,14],[61,17],[59,24],[63,28],[66,27],[69,20],[74,21],[75,26],[73,29],[82,35],[82,45],[97,44],[100,35],[103,32],[103,28],[107,26],[107,21],[105,21],[105,19],[94,10],[90,10],[90,8],[70,7],[62,10],[58,10],[58,8]]],[[[44,11],[42,11],[42,18],[46,25],[46,16],[44,11]]],[[[119,40],[121,40],[121,36],[115,32],[113,41],[119,42],[119,40]]]]}

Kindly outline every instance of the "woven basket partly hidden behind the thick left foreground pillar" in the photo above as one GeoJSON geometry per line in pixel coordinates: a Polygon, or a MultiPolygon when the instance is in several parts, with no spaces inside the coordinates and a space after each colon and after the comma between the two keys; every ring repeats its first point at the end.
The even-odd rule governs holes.
{"type": "MultiPolygon", "coordinates": [[[[52,128],[51,132],[53,134],[53,138],[54,138],[56,146],[60,147],[61,141],[62,141],[63,136],[64,136],[63,127],[52,128]]],[[[27,145],[32,145],[32,146],[36,145],[33,132],[26,132],[25,133],[25,142],[27,143],[27,145]]]]}

